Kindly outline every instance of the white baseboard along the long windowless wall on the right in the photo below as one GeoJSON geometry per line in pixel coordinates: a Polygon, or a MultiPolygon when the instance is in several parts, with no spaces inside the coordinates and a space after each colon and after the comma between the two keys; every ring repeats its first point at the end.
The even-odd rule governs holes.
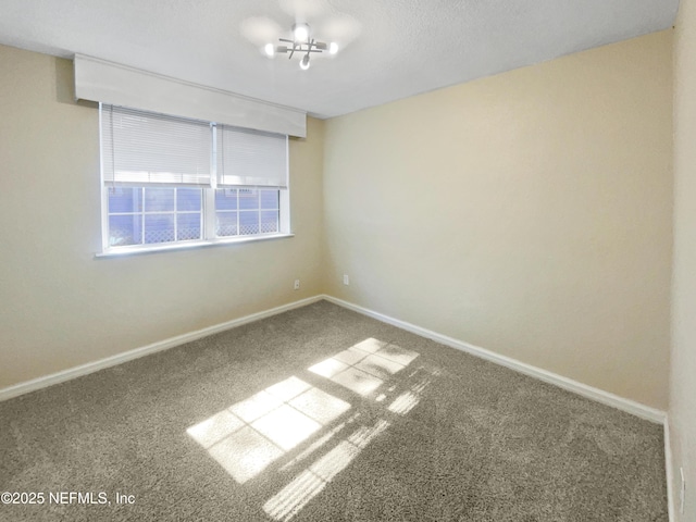
{"type": "Polygon", "coordinates": [[[446,345],[451,348],[465,351],[467,353],[471,353],[472,356],[480,357],[487,361],[495,362],[496,364],[500,364],[502,366],[509,368],[510,370],[514,370],[525,375],[530,375],[531,377],[538,378],[539,381],[544,381],[545,383],[554,384],[560,388],[567,389],[569,391],[573,391],[577,395],[582,395],[583,397],[587,397],[588,399],[593,399],[597,402],[601,402],[602,405],[611,406],[621,411],[632,413],[636,417],[639,417],[641,419],[645,419],[647,421],[655,422],[658,424],[662,424],[667,419],[667,414],[662,410],[650,408],[648,406],[642,405],[631,399],[626,399],[618,395],[610,394],[609,391],[605,391],[602,389],[595,388],[593,386],[588,386],[583,383],[579,383],[577,381],[573,381],[572,378],[568,378],[562,375],[548,372],[540,368],[526,364],[524,362],[518,361],[517,359],[501,356],[494,351],[486,350],[485,348],[470,345],[469,343],[464,343],[462,340],[458,340],[452,337],[448,337],[446,335],[442,335],[436,332],[422,328],[421,326],[407,323],[406,321],[400,321],[398,319],[384,315],[382,313],[375,312],[373,310],[369,310],[358,304],[344,301],[343,299],[338,299],[332,296],[322,296],[322,297],[323,299],[326,299],[327,301],[338,304],[340,307],[347,308],[358,313],[362,313],[363,315],[368,315],[370,318],[376,319],[384,323],[391,324],[399,328],[420,335],[421,337],[433,339],[436,343],[439,343],[442,345],[446,345]]]}

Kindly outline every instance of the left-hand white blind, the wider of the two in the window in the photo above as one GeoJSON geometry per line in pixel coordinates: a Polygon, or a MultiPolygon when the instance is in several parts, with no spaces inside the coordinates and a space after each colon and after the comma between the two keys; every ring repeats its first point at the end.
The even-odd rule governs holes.
{"type": "Polygon", "coordinates": [[[105,184],[210,186],[211,124],[101,105],[105,184]]]}

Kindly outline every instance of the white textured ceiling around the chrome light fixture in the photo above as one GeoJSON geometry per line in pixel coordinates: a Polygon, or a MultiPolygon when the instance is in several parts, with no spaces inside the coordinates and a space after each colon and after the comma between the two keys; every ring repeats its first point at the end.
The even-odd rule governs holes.
{"type": "MultiPolygon", "coordinates": [[[[668,28],[679,0],[0,0],[0,44],[331,117],[668,28]],[[309,71],[268,41],[336,41],[309,71]]],[[[1,74],[1,72],[0,72],[1,74]]]]}

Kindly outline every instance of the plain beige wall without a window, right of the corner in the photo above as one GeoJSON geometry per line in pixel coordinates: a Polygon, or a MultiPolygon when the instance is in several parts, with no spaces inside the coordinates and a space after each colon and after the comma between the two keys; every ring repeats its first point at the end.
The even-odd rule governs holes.
{"type": "Polygon", "coordinates": [[[327,293],[666,409],[671,49],[662,32],[327,121],[327,293]]]}

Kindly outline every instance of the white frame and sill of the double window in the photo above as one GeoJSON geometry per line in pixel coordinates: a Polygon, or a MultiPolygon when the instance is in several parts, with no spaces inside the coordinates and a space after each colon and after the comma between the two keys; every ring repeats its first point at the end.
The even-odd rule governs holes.
{"type": "MultiPolygon", "coordinates": [[[[105,103],[103,103],[105,104],[105,103]]],[[[145,112],[145,111],[144,111],[145,112]]],[[[217,173],[216,173],[216,124],[211,122],[211,175],[210,175],[210,186],[201,186],[198,187],[202,191],[201,194],[201,238],[200,239],[184,239],[184,240],[174,240],[166,243],[151,243],[151,244],[138,244],[138,245],[122,245],[122,246],[113,246],[110,244],[111,234],[110,234],[110,212],[109,212],[109,190],[113,187],[123,187],[123,188],[147,188],[153,187],[157,185],[142,185],[142,184],[123,184],[123,183],[114,183],[111,185],[111,182],[104,182],[104,169],[103,169],[103,147],[102,147],[102,103],[99,104],[99,184],[101,190],[101,252],[96,253],[98,258],[105,257],[122,257],[134,253],[152,253],[152,252],[163,252],[163,251],[173,251],[173,250],[188,250],[191,248],[201,248],[201,247],[213,247],[213,246],[225,246],[225,245],[240,245],[247,243],[256,243],[256,241],[264,241],[270,239],[281,239],[293,237],[290,228],[290,183],[289,183],[289,136],[285,136],[286,146],[286,176],[287,176],[287,186],[286,187],[272,187],[272,186],[258,186],[258,187],[249,187],[249,186],[225,186],[217,187],[217,173]],[[232,189],[257,189],[257,190],[277,190],[278,191],[278,231],[272,233],[257,233],[257,234],[237,234],[231,236],[217,236],[216,233],[216,212],[217,209],[215,207],[215,190],[232,188],[232,189]]],[[[184,187],[186,185],[177,185],[177,184],[162,184],[162,188],[176,188],[184,187]]],[[[261,196],[259,195],[259,206],[261,196]]],[[[262,209],[259,209],[260,212],[262,209]]],[[[238,210],[237,210],[238,212],[238,210]]],[[[141,214],[145,217],[145,209],[141,209],[141,214]]],[[[176,213],[174,212],[175,220],[176,213]]],[[[259,221],[259,228],[261,228],[261,221],[259,221]]],[[[239,232],[239,231],[237,231],[239,232]]]]}

